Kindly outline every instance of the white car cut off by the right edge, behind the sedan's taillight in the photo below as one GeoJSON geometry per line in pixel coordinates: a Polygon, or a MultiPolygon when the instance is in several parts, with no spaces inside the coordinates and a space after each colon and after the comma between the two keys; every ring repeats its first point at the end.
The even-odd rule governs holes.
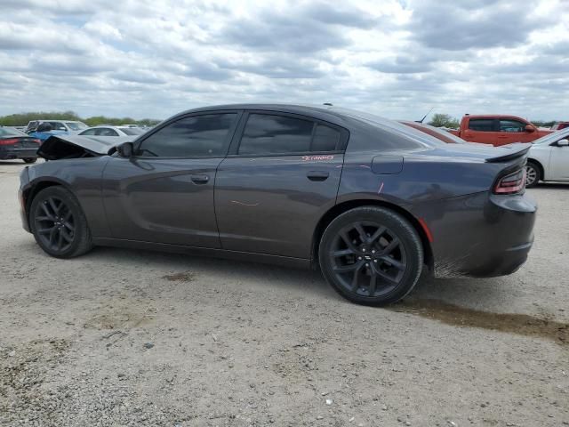
{"type": "Polygon", "coordinates": [[[569,181],[569,128],[533,141],[525,171],[526,187],[539,181],[569,181]]]}

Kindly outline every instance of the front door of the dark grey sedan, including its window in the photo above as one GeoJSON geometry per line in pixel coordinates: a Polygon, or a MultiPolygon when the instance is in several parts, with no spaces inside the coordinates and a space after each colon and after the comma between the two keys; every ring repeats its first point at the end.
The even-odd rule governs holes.
{"type": "Polygon", "coordinates": [[[213,184],[237,116],[182,117],[137,141],[134,157],[112,157],[103,172],[112,237],[219,248],[213,184]]]}

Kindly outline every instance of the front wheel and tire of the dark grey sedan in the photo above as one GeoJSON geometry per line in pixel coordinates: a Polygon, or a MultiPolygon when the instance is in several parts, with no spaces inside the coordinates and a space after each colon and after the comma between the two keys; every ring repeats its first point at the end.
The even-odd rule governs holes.
{"type": "Polygon", "coordinates": [[[83,210],[64,187],[48,187],[36,194],[29,209],[29,226],[37,245],[56,258],[73,258],[92,249],[83,210]]]}

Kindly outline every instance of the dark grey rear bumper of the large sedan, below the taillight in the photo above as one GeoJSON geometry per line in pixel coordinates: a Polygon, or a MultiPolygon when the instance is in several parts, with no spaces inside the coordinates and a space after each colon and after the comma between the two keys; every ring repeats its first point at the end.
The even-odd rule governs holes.
{"type": "Polygon", "coordinates": [[[524,195],[477,193],[421,206],[437,278],[492,278],[518,270],[533,245],[537,205],[524,195]]]}

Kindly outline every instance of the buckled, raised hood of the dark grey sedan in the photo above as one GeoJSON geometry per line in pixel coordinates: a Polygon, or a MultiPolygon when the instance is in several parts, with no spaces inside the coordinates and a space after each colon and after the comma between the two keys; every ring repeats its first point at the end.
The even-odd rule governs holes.
{"type": "MultiPolygon", "coordinates": [[[[117,145],[126,142],[126,139],[126,137],[114,137],[111,141],[95,136],[52,135],[40,146],[37,155],[46,160],[107,156],[117,145]]],[[[128,140],[132,141],[131,138],[128,140]]]]}

